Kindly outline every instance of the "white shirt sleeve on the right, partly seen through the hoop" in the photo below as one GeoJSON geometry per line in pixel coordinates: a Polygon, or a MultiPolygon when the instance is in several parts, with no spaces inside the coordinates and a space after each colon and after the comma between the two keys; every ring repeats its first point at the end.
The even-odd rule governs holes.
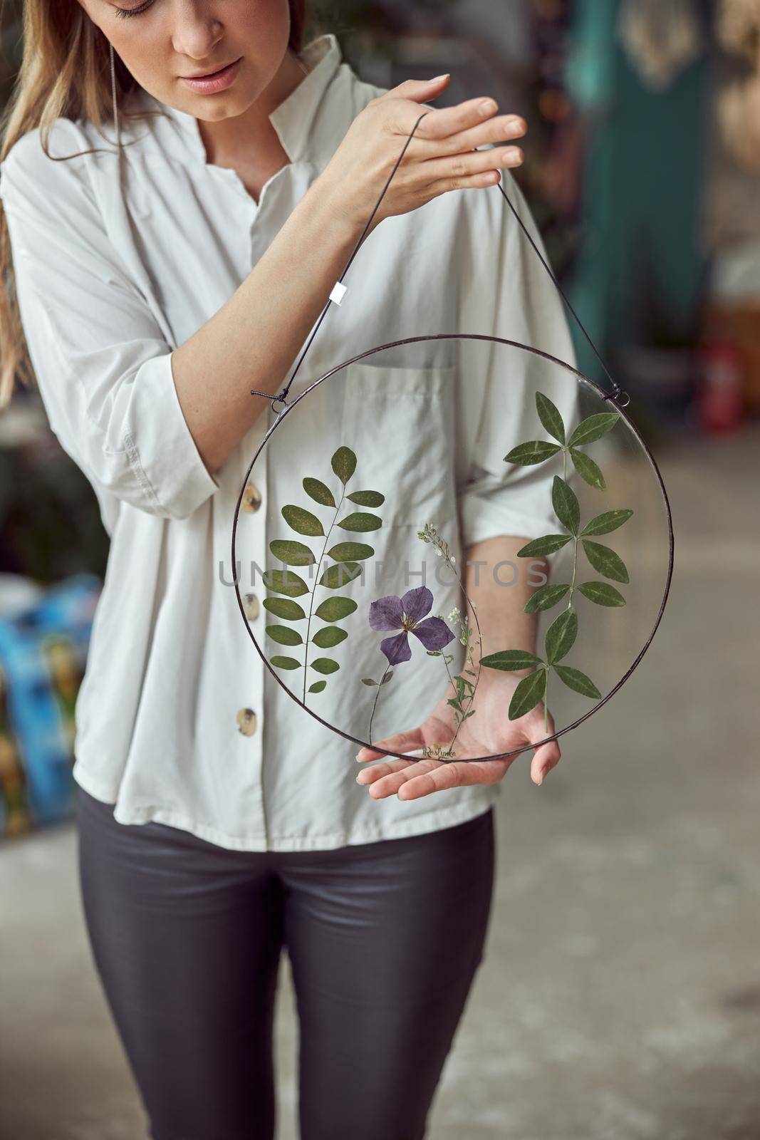
{"type": "MultiPolygon", "coordinates": [[[[525,199],[510,174],[505,193],[546,251],[525,199]]],[[[498,187],[467,190],[460,235],[460,328],[526,344],[575,366],[563,301],[520,229],[498,187]]],[[[457,495],[464,546],[501,535],[538,538],[556,531],[554,475],[562,463],[505,463],[517,443],[555,442],[541,426],[536,392],[557,406],[567,431],[579,420],[572,372],[520,348],[460,342],[457,389],[457,495]]]]}

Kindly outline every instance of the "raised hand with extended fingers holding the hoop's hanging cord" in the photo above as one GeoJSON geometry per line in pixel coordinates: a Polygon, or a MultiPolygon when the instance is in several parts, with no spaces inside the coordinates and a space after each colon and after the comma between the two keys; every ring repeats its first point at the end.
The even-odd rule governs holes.
{"type": "MultiPolygon", "coordinates": [[[[366,222],[423,114],[419,105],[435,99],[449,82],[407,80],[357,115],[317,181],[332,188],[341,209],[366,222]]],[[[430,108],[415,131],[385,193],[370,230],[384,218],[409,213],[448,190],[493,186],[500,168],[518,166],[520,147],[476,150],[487,142],[521,138],[518,115],[496,115],[493,99],[467,99],[455,107],[430,108]]]]}

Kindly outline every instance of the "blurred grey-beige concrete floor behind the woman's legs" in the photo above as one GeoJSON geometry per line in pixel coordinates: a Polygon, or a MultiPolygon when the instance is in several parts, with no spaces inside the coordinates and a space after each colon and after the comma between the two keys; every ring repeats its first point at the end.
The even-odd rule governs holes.
{"type": "MultiPolygon", "coordinates": [[[[657,445],[671,600],[545,785],[528,755],[507,774],[487,958],[434,1140],[760,1138],[759,454],[760,424],[657,445]]],[[[0,1134],[138,1140],[74,852],[70,826],[0,848],[0,1134]]],[[[279,1140],[295,1137],[286,972],[279,1140]]]]}

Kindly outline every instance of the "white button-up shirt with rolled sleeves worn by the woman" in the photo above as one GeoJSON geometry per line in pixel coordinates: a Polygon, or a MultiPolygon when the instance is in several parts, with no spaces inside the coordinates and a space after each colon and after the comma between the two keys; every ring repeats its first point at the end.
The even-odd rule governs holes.
{"type": "MultiPolygon", "coordinates": [[[[76,703],[74,776],[115,804],[120,822],[156,820],[245,850],[334,848],[433,831],[484,812],[499,792],[497,784],[407,803],[371,799],[356,782],[359,746],[275,681],[224,584],[235,506],[273,416],[262,414],[210,474],[181,412],[171,353],[240,285],[353,119],[382,93],[342,62],[334,35],[312,41],[303,59],[311,72],[270,115],[289,163],[269,179],[259,204],[234,170],[207,163],[194,116],[145,91],[141,104],[164,114],[122,117],[121,185],[113,129],[83,120],[57,120],[50,150],[97,153],[50,161],[33,130],[0,164],[40,393],[52,431],[95,489],[112,543],[76,703]]],[[[540,243],[510,176],[504,185],[540,243]]],[[[572,363],[561,302],[498,188],[447,193],[385,219],[345,284],[291,399],[367,349],[427,333],[502,336],[572,363]]],[[[239,514],[236,553],[244,568],[268,563],[273,537],[297,537],[283,526],[281,505],[313,506],[304,502],[303,475],[329,474],[333,449],[349,439],[363,464],[361,483],[392,491],[390,543],[414,538],[425,521],[459,555],[493,535],[556,529],[544,467],[502,462],[515,442],[536,435],[532,394],[522,404],[514,398],[528,383],[524,361],[512,361],[507,412],[498,375],[504,358],[477,345],[467,368],[467,359],[451,353],[451,342],[435,342],[386,352],[382,361],[369,357],[288,413],[267,462],[252,473],[253,510],[239,514]]],[[[542,388],[570,416],[569,385],[555,388],[551,375],[542,388]]],[[[210,399],[213,389],[212,375],[210,399]]],[[[412,577],[382,592],[419,584],[412,577]]],[[[436,612],[459,604],[453,585],[435,589],[436,612]]],[[[252,595],[251,628],[263,644],[265,589],[260,578],[252,588],[243,570],[240,591],[252,595]]],[[[345,649],[343,676],[382,671],[376,641],[365,641],[366,656],[358,638],[332,651],[338,658],[345,649]]],[[[398,687],[401,703],[384,732],[419,723],[420,702],[428,711],[440,699],[440,675],[426,676],[406,707],[398,687]]],[[[366,740],[369,691],[356,715],[356,686],[332,691],[319,715],[366,740]]]]}

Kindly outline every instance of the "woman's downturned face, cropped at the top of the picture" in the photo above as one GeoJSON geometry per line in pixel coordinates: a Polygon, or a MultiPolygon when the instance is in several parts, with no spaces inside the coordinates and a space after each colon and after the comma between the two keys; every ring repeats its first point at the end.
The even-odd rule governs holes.
{"type": "Polygon", "coordinates": [[[291,34],[288,0],[79,2],[140,87],[206,121],[248,109],[277,74],[291,34]]]}

